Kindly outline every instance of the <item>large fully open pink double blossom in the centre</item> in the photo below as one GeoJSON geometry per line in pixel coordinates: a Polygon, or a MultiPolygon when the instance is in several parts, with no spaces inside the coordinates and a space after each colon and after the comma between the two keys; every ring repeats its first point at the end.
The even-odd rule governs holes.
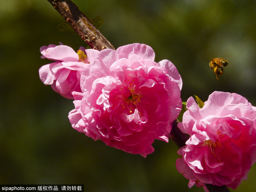
{"type": "Polygon", "coordinates": [[[173,63],[154,57],[138,43],[100,51],[82,73],[83,93],[73,92],[72,127],[143,157],[154,151],[155,139],[168,142],[182,107],[182,80],[173,63]]]}

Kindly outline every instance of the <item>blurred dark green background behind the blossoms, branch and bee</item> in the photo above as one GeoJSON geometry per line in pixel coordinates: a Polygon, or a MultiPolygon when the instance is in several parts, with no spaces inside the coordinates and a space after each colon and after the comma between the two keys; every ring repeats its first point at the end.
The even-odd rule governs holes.
{"type": "MultiPolygon", "coordinates": [[[[101,33],[114,45],[151,46],[155,61],[172,61],[183,79],[182,100],[213,91],[236,92],[256,105],[256,1],[148,0],[73,2],[89,18],[101,15],[101,33]],[[228,60],[220,80],[209,68],[228,60]]],[[[187,187],[175,167],[178,148],[155,141],[143,158],[106,146],[72,129],[74,106],[45,86],[40,47],[87,44],[59,32],[64,21],[47,0],[0,0],[0,184],[84,184],[85,191],[204,191],[187,187]]],[[[180,119],[181,120],[181,119],[180,119]]],[[[234,191],[254,191],[256,165],[234,191]]],[[[230,191],[232,191],[230,189],[230,191]]]]}

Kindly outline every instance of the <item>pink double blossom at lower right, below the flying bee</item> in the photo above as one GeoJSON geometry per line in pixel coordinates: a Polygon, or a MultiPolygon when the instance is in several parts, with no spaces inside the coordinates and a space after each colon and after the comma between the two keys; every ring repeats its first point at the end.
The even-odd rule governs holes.
{"type": "Polygon", "coordinates": [[[236,93],[213,92],[202,109],[190,97],[179,129],[190,136],[176,167],[189,187],[237,188],[256,161],[256,108],[236,93]]]}

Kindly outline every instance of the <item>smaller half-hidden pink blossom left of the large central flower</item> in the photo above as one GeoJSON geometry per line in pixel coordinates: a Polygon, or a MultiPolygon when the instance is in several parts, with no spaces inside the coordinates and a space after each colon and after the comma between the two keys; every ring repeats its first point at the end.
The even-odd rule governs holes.
{"type": "Polygon", "coordinates": [[[81,73],[99,52],[93,49],[85,50],[83,47],[80,47],[80,50],[86,53],[86,59],[79,57],[71,47],[66,45],[49,45],[40,48],[42,59],[55,61],[39,69],[41,81],[46,85],[51,85],[54,91],[68,99],[73,99],[73,91],[81,92],[81,73]]]}

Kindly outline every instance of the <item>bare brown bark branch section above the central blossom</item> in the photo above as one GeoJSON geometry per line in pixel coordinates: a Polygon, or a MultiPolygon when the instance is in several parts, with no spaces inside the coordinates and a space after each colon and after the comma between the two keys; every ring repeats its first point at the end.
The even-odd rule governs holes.
{"type": "Polygon", "coordinates": [[[47,0],[60,15],[77,31],[87,44],[96,50],[115,49],[113,45],[100,33],[70,0],[47,0]]]}

